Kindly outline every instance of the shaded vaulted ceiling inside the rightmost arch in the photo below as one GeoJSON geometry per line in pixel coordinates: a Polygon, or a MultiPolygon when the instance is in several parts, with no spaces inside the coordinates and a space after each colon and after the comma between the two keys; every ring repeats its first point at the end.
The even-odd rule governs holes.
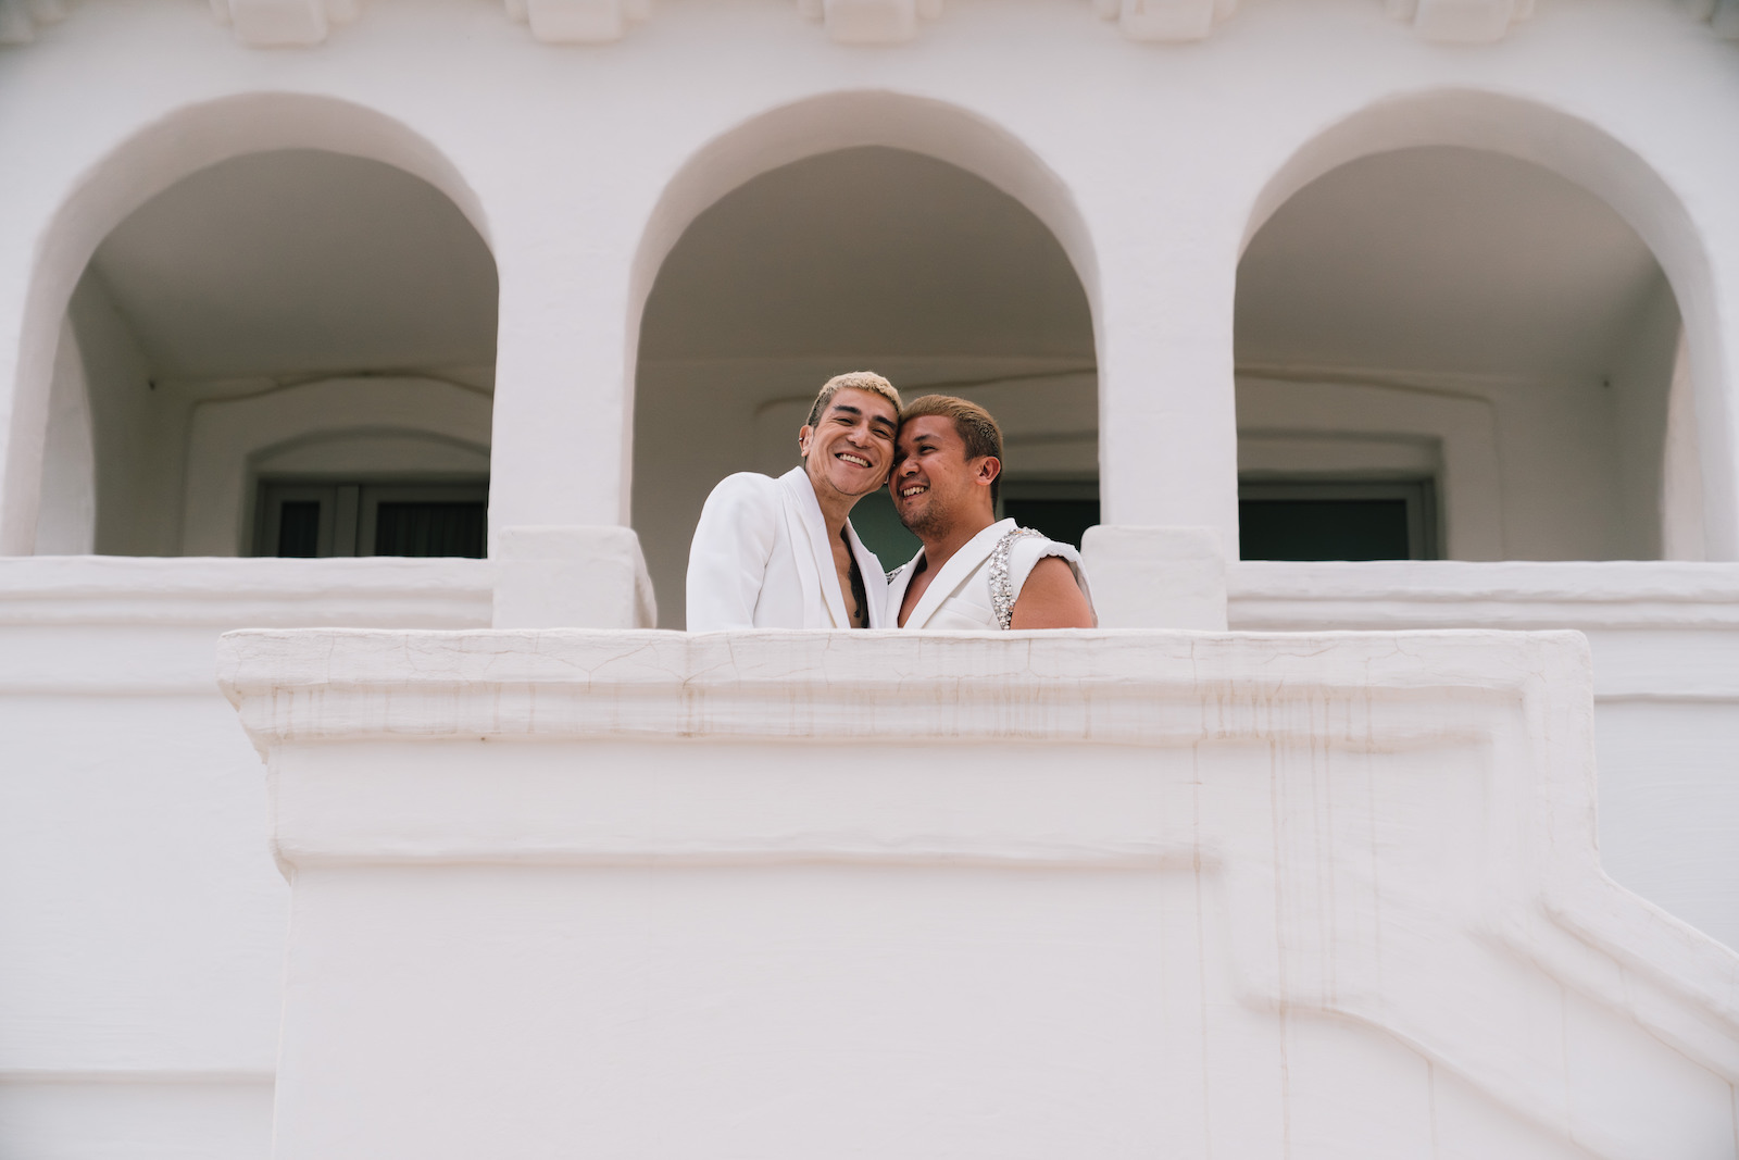
{"type": "Polygon", "coordinates": [[[1417,148],[1301,190],[1238,266],[1240,365],[1600,377],[1661,268],[1605,202],[1497,153],[1417,148]]]}

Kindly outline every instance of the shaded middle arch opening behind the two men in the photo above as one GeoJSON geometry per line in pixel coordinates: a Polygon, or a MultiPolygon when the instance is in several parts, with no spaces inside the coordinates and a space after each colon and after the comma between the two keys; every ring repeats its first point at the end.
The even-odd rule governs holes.
{"type": "MultiPolygon", "coordinates": [[[[1003,506],[1078,543],[1097,522],[1092,311],[1063,245],[989,181],[889,146],[790,162],[701,212],[640,329],[633,525],[661,623],[683,623],[689,539],[732,471],[779,475],[816,390],[842,370],[908,398],[988,407],[1003,506]]],[[[887,494],[852,517],[892,567],[916,550],[887,494]]]]}

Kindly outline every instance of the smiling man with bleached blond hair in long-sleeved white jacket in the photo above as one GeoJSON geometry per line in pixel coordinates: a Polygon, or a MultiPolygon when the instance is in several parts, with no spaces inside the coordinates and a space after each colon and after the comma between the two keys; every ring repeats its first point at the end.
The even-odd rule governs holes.
{"type": "Polygon", "coordinates": [[[800,466],[725,477],[689,546],[689,631],[882,628],[887,577],[849,517],[887,482],[897,426],[887,379],[842,374],[796,433],[800,466]]]}

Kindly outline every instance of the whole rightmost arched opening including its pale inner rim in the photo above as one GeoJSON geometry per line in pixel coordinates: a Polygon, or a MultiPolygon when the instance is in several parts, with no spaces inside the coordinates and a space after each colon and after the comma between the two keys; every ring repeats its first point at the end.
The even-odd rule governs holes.
{"type": "Polygon", "coordinates": [[[1240,555],[1730,553],[1706,275],[1652,170],[1549,110],[1426,94],[1329,130],[1238,266],[1240,555]]]}

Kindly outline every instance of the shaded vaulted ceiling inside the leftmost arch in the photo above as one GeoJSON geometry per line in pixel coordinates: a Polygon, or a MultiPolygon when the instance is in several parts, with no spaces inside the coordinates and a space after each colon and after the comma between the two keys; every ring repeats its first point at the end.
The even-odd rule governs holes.
{"type": "Polygon", "coordinates": [[[285,150],[212,165],[92,261],[165,376],[496,360],[489,247],[445,195],[379,162],[285,150]]]}

